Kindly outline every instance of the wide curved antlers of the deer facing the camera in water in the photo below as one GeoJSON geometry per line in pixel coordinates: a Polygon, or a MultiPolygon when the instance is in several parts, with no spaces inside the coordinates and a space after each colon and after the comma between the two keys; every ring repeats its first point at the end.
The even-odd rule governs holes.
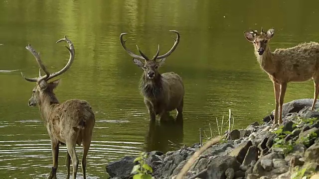
{"type": "MultiPolygon", "coordinates": [[[[152,60],[162,59],[162,58],[168,57],[168,56],[169,56],[171,53],[173,53],[173,51],[176,49],[176,47],[177,47],[177,45],[178,45],[178,43],[179,43],[179,37],[180,37],[180,35],[179,35],[179,33],[178,33],[176,30],[169,30],[169,31],[176,33],[176,40],[174,39],[174,45],[173,45],[173,47],[172,47],[167,53],[165,53],[164,55],[160,55],[160,56],[159,56],[159,53],[160,53],[160,45],[159,45],[159,46],[158,46],[158,52],[156,53],[156,55],[153,57],[152,60]]],[[[122,45],[122,47],[124,48],[124,50],[125,50],[130,56],[132,56],[132,57],[134,57],[134,58],[139,58],[139,59],[143,59],[143,60],[146,60],[146,61],[150,60],[150,59],[139,49],[138,46],[137,46],[137,49],[138,49],[138,51],[140,52],[141,56],[134,54],[132,51],[130,51],[129,49],[126,48],[126,46],[125,46],[126,40],[123,40],[123,36],[126,35],[126,34],[128,34],[128,33],[121,33],[121,35],[120,35],[120,42],[121,42],[121,45],[122,45]]]]}

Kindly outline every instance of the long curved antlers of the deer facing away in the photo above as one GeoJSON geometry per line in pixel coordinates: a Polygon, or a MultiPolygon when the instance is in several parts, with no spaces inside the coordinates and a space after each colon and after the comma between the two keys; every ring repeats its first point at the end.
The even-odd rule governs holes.
{"type": "Polygon", "coordinates": [[[64,36],[64,38],[58,40],[56,43],[59,43],[59,42],[62,42],[62,41],[67,42],[67,43],[69,44],[69,47],[70,47],[70,48],[69,48],[69,47],[65,46],[65,47],[68,49],[69,53],[70,53],[70,58],[69,58],[68,63],[65,65],[65,67],[64,67],[63,69],[61,69],[61,70],[58,71],[58,72],[54,72],[54,73],[50,74],[50,73],[47,71],[46,67],[43,65],[43,63],[42,63],[42,61],[41,61],[41,59],[40,59],[39,53],[36,53],[36,51],[31,47],[31,45],[28,44],[28,46],[26,46],[25,48],[26,48],[29,52],[32,53],[32,55],[35,57],[36,62],[37,62],[38,65],[40,66],[40,69],[39,69],[39,77],[37,77],[37,78],[27,78],[27,77],[25,77],[25,76],[23,75],[23,73],[21,72],[22,77],[23,77],[25,80],[29,81],[29,82],[40,82],[41,80],[46,80],[46,81],[48,81],[48,80],[50,80],[50,79],[52,79],[52,78],[54,78],[54,77],[57,77],[57,76],[63,74],[64,72],[66,72],[66,71],[70,68],[71,64],[73,63],[74,55],[75,55],[75,50],[74,50],[73,43],[72,43],[66,36],[64,36]],[[41,76],[41,69],[45,72],[45,75],[44,75],[44,76],[41,76]]]}

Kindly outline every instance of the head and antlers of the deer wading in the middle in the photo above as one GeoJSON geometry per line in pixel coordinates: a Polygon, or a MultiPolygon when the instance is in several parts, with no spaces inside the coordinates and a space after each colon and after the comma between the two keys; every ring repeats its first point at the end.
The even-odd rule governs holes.
{"type": "Polygon", "coordinates": [[[141,55],[136,55],[133,52],[131,52],[129,49],[126,48],[125,42],[126,40],[123,40],[123,36],[127,33],[122,33],[120,35],[120,41],[122,44],[122,47],[126,52],[128,52],[129,55],[133,57],[133,62],[138,67],[142,68],[144,70],[144,75],[148,79],[152,80],[158,77],[159,75],[159,68],[164,64],[166,57],[168,57],[177,47],[179,43],[179,33],[176,30],[170,30],[170,32],[176,33],[176,40],[174,39],[174,45],[173,47],[164,55],[160,55],[160,45],[158,46],[158,51],[156,52],[155,56],[150,59],[148,58],[139,48],[138,45],[136,45],[139,53],[141,55]]]}

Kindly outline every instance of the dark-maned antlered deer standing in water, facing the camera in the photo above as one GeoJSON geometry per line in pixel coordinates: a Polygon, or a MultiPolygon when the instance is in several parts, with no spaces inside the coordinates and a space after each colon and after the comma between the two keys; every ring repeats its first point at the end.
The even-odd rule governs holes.
{"type": "Polygon", "coordinates": [[[149,109],[150,120],[155,120],[156,115],[160,116],[160,121],[169,118],[169,111],[177,110],[176,120],[182,120],[183,111],[183,98],[184,98],[184,85],[182,79],[174,72],[160,74],[159,68],[177,47],[179,42],[179,33],[175,30],[170,30],[177,34],[176,40],[174,39],[173,47],[164,55],[160,55],[160,45],[156,55],[149,59],[136,45],[140,55],[136,55],[125,46],[123,36],[127,33],[120,35],[122,47],[129,55],[133,57],[133,62],[144,70],[140,82],[140,91],[144,96],[144,102],[149,109]]]}

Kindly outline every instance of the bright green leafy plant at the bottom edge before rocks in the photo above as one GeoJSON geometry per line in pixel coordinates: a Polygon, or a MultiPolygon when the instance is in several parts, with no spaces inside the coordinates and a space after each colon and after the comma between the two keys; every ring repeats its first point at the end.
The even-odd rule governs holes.
{"type": "Polygon", "coordinates": [[[150,167],[145,161],[147,159],[147,154],[142,152],[139,157],[134,160],[138,162],[138,165],[135,165],[132,169],[131,174],[135,174],[133,179],[155,179],[150,174],[153,173],[152,167],[150,167]]]}

